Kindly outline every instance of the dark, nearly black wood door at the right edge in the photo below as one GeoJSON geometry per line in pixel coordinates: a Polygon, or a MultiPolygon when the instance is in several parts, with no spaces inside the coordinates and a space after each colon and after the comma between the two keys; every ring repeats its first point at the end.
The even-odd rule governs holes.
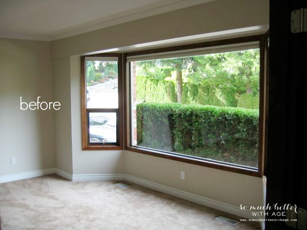
{"type": "MultiPolygon", "coordinates": [[[[291,32],[291,12],[305,0],[270,0],[267,205],[307,210],[307,32],[291,32]]],[[[307,17],[307,15],[305,15],[307,17]]],[[[285,219],[272,216],[268,219],[285,219]]],[[[266,221],[267,230],[294,229],[266,221]]]]}

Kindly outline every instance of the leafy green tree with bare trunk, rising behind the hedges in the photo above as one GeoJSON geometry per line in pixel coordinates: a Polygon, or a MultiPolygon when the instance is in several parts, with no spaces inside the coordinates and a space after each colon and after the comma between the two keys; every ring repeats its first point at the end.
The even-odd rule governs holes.
{"type": "MultiPolygon", "coordinates": [[[[141,73],[163,80],[176,75],[177,102],[182,102],[183,82],[206,85],[236,100],[259,91],[259,49],[207,54],[193,57],[138,61],[141,73]]],[[[236,103],[235,103],[236,104],[236,103]]]]}

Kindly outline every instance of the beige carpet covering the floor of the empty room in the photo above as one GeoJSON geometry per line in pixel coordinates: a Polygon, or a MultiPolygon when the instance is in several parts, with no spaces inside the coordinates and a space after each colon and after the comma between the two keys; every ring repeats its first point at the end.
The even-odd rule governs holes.
{"type": "Polygon", "coordinates": [[[234,216],[130,185],[72,182],[57,175],[1,183],[1,229],[260,229],[254,222],[217,221],[220,215],[234,216]]]}

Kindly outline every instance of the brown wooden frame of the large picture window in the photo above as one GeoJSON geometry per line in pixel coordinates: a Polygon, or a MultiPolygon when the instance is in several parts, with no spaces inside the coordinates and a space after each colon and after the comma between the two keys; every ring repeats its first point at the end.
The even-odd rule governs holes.
{"type": "Polygon", "coordinates": [[[264,171],[264,156],[265,156],[265,130],[266,130],[266,104],[267,104],[267,76],[265,74],[266,66],[265,66],[265,58],[266,58],[266,48],[267,48],[267,39],[265,35],[254,35],[248,37],[240,37],[240,38],[232,38],[218,41],[209,41],[195,44],[187,44],[187,45],[178,45],[174,47],[168,48],[158,48],[152,50],[145,51],[136,51],[125,53],[123,56],[123,72],[124,72],[124,88],[125,88],[125,103],[124,103],[124,111],[125,111],[125,141],[124,141],[124,149],[143,153],[151,156],[158,156],[166,159],[177,160],[179,162],[194,164],[205,166],[214,169],[220,169],[235,173],[241,173],[250,176],[262,177],[264,171]],[[199,48],[210,48],[216,47],[219,45],[231,45],[237,43],[258,41],[259,42],[259,52],[260,52],[260,66],[259,66],[259,135],[258,135],[258,168],[254,169],[252,167],[240,166],[230,163],[221,163],[216,160],[211,159],[199,159],[192,158],[189,156],[177,155],[165,151],[156,151],[144,147],[136,147],[130,145],[131,140],[131,120],[130,120],[130,71],[127,70],[127,57],[129,56],[137,56],[137,55],[148,55],[148,54],[156,54],[163,52],[172,52],[172,51],[184,51],[184,50],[192,50],[199,48]],[[128,72],[127,72],[128,71],[128,72]]]}

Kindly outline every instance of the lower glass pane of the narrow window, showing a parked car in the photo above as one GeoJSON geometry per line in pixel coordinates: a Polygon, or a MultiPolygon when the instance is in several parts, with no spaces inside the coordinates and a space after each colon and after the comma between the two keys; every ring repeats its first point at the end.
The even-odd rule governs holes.
{"type": "Polygon", "coordinates": [[[90,143],[116,143],[116,112],[89,112],[90,143]]]}

